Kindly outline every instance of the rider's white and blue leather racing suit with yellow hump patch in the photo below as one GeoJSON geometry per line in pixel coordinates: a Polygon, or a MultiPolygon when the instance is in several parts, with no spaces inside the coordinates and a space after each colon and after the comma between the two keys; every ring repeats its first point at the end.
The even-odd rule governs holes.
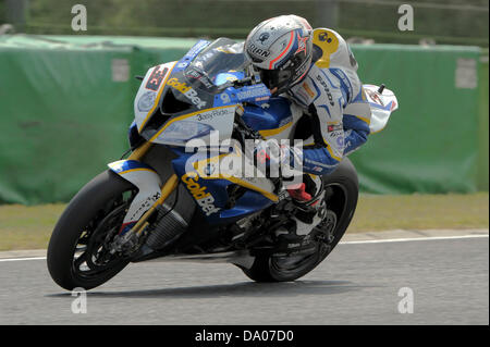
{"type": "Polygon", "coordinates": [[[366,142],[371,111],[357,76],[357,62],[334,30],[317,28],[314,62],[289,97],[311,117],[313,135],[304,141],[303,170],[323,175],[366,142]]]}

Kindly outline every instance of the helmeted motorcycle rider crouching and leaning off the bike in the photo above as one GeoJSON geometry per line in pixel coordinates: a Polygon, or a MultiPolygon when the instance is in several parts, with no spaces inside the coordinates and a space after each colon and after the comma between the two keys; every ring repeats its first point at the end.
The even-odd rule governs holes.
{"type": "MultiPolygon", "coordinates": [[[[366,142],[371,111],[357,76],[357,62],[345,40],[328,28],[313,29],[297,15],[258,24],[244,51],[272,96],[285,96],[309,115],[311,136],[303,150],[281,148],[284,160],[301,161],[305,182],[286,186],[298,202],[316,203],[319,176],[366,142]],[[305,184],[306,183],[306,184],[305,184]]],[[[266,141],[261,150],[274,146],[266,141]]],[[[264,156],[262,156],[264,157],[264,156]]]]}

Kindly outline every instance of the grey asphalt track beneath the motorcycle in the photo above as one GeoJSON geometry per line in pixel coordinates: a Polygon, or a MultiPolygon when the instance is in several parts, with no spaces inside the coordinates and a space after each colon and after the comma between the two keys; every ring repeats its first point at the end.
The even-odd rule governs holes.
{"type": "Polygon", "coordinates": [[[231,264],[130,264],[78,314],[44,259],[0,261],[0,324],[489,324],[489,238],[341,244],[294,283],[253,283],[231,264]],[[413,313],[399,312],[403,287],[413,313]]]}

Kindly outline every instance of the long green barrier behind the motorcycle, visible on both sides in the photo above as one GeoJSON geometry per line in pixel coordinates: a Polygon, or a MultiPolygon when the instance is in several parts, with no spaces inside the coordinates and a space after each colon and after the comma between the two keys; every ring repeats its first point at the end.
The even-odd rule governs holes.
{"type": "MultiPolygon", "coordinates": [[[[138,87],[133,76],[177,60],[194,42],[0,37],[0,203],[66,201],[118,160],[127,149],[138,87]]],[[[363,82],[384,83],[400,101],[387,129],[352,156],[362,189],[488,189],[485,53],[395,45],[353,46],[353,51],[363,82]]]]}

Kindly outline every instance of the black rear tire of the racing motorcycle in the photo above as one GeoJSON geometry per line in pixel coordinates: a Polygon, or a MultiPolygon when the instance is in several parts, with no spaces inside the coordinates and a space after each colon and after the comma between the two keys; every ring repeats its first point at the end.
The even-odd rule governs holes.
{"type": "Polygon", "coordinates": [[[250,280],[255,282],[295,281],[314,270],[339,244],[354,216],[359,191],[357,173],[348,158],[345,158],[333,173],[323,177],[323,184],[330,194],[328,208],[335,213],[336,218],[333,238],[328,244],[319,243],[311,255],[298,258],[297,262],[295,259],[283,257],[282,261],[290,262],[291,269],[278,267],[279,258],[274,258],[273,255],[257,256],[252,268],[241,267],[250,280]]]}

